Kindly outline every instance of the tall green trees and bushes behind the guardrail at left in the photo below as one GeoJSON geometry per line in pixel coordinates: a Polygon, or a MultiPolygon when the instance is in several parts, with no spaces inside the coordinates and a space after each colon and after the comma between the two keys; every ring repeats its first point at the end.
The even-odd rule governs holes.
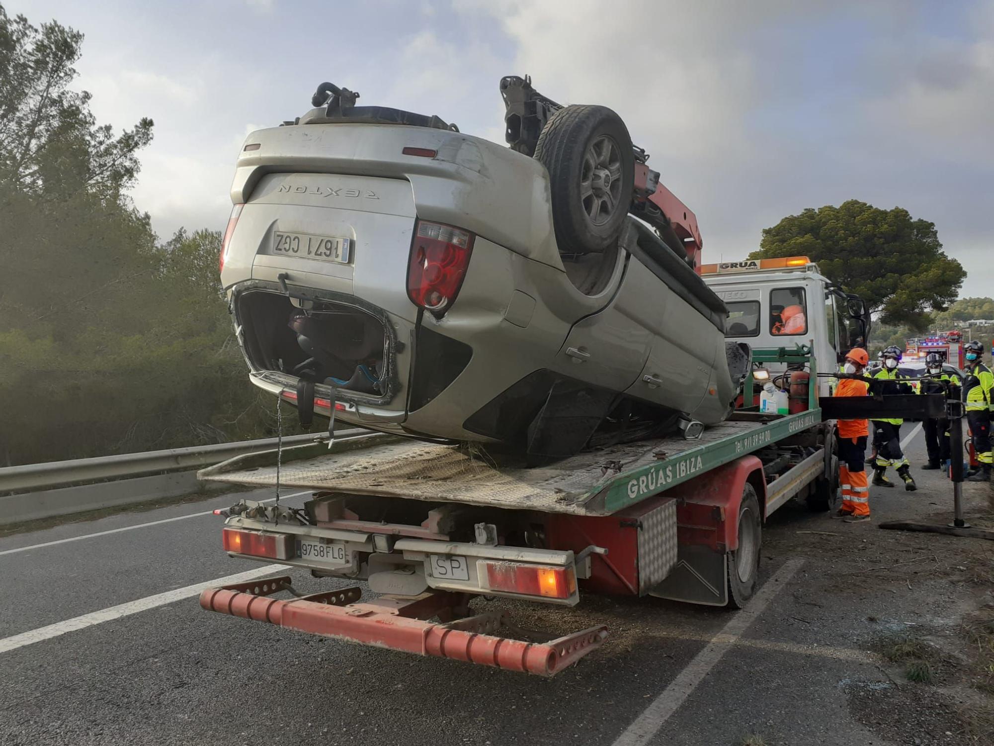
{"type": "Polygon", "coordinates": [[[266,435],[221,234],[160,244],[123,194],[152,122],[95,122],[82,43],[0,6],[0,465],[266,435]]]}

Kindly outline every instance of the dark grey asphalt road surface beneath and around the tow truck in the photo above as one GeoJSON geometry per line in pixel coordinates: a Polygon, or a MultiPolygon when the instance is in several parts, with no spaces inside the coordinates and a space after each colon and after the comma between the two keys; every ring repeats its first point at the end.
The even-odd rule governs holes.
{"type": "MultiPolygon", "coordinates": [[[[920,463],[922,451],[918,432],[911,458],[920,463]]],[[[873,495],[876,513],[900,512],[910,499],[949,502],[939,477],[913,497],[888,491],[873,495]]],[[[861,641],[875,624],[920,614],[906,608],[919,600],[847,596],[845,587],[844,601],[827,597],[835,586],[824,582],[824,558],[781,551],[798,530],[843,530],[825,516],[796,506],[773,516],[762,603],[748,612],[596,597],[566,612],[515,606],[526,628],[611,628],[603,649],[547,680],[201,610],[196,592],[180,589],[255,566],[222,552],[221,518],[166,519],[233,501],[226,495],[0,539],[0,743],[673,746],[741,744],[749,735],[766,744],[891,743],[858,722],[847,702],[853,682],[889,685],[861,641]],[[143,525],[154,521],[163,522],[143,525]],[[64,541],[77,537],[86,538],[64,541]],[[170,591],[187,595],[154,601],[170,591]],[[62,625],[139,601],[126,616],[90,616],[97,623],[72,631],[62,625]],[[868,611],[880,621],[868,622],[868,611]]],[[[866,525],[852,528],[874,535],[866,525]]],[[[288,573],[305,590],[329,587],[288,573]]]]}

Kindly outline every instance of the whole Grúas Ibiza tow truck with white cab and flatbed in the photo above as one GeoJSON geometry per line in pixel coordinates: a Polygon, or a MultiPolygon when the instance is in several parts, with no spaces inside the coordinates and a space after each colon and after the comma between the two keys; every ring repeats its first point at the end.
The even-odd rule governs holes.
{"type": "MultiPolygon", "coordinates": [[[[527,79],[504,79],[501,90],[509,144],[527,154],[561,107],[527,79]]],[[[322,92],[324,85],[319,102],[322,92]]],[[[860,316],[853,329],[865,339],[869,319],[859,298],[832,286],[806,258],[775,267],[763,260],[702,268],[693,213],[658,184],[647,155],[637,150],[635,199],[620,209],[652,226],[677,257],[673,272],[703,274],[733,311],[727,349],[740,351],[747,373],[728,419],[708,427],[682,420],[675,434],[637,440],[623,438],[629,434],[622,423],[617,433],[584,439],[579,453],[540,466],[477,442],[394,432],[336,440],[331,426],[314,444],[211,466],[202,479],[272,487],[277,495],[275,504],[242,500],[219,511],[231,557],[300,568],[333,585],[302,594],[280,575],[208,589],[200,598],[205,609],[344,642],[551,676],[602,646],[607,628],[562,637],[526,633],[489,600],[573,607],[581,593],[593,593],[747,604],[769,516],[795,498],[817,510],[835,504],[834,423],[822,410],[823,387],[811,382],[823,368],[836,370],[843,339],[855,338],[850,321],[860,316]],[[787,306],[800,306],[807,319],[800,327],[796,313],[786,323],[787,306]],[[755,329],[740,333],[735,324],[749,314],[755,329]],[[777,318],[767,328],[771,314],[777,318]],[[753,396],[758,382],[788,372],[791,411],[760,412],[753,396]],[[281,488],[312,497],[302,508],[288,507],[278,499],[281,488]],[[373,598],[363,599],[367,589],[373,598]]],[[[230,271],[235,260],[227,259],[230,271]]],[[[707,287],[701,290],[718,302],[707,287]]],[[[672,307],[666,328],[686,326],[681,306],[672,307]]],[[[670,363],[673,385],[710,375],[705,363],[685,369],[670,363]]],[[[299,397],[289,388],[272,393],[280,402],[299,397]]],[[[327,401],[332,416],[346,406],[327,401]]],[[[569,423],[564,417],[557,427],[569,423]]]]}

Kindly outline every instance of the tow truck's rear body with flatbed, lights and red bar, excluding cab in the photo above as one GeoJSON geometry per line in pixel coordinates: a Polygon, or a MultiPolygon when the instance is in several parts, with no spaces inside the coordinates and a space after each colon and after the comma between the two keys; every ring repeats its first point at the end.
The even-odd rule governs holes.
{"type": "MultiPolygon", "coordinates": [[[[755,359],[814,375],[810,347],[755,359]]],[[[282,576],[206,590],[201,606],[546,676],[600,646],[606,627],[550,640],[469,601],[574,606],[582,591],[745,606],[762,522],[792,497],[830,509],[838,472],[834,423],[823,421],[815,387],[797,414],[760,414],[750,400],[699,439],[606,446],[552,466],[371,434],[206,468],[209,481],[314,493],[304,509],[243,500],[221,511],[230,556],[365,580],[379,596],[360,602],[359,586],[301,596],[282,576]],[[293,598],[271,598],[284,591],[293,598]]]]}

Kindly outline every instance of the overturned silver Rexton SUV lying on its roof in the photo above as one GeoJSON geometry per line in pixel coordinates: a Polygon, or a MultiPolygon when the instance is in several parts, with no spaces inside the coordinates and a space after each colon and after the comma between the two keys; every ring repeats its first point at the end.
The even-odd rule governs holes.
{"type": "Polygon", "coordinates": [[[693,213],[610,109],[501,93],[509,148],[331,84],[248,135],[221,278],[251,381],[536,463],[725,419],[747,355],[693,213]]]}

